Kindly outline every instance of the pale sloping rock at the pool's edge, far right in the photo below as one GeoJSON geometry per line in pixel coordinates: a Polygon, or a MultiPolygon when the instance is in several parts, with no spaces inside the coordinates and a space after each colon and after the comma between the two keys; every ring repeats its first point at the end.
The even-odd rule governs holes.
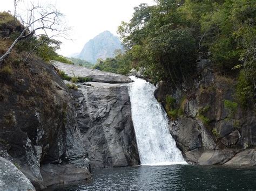
{"type": "Polygon", "coordinates": [[[256,148],[247,149],[245,151],[239,152],[230,161],[226,162],[224,165],[256,165],[256,148]]]}

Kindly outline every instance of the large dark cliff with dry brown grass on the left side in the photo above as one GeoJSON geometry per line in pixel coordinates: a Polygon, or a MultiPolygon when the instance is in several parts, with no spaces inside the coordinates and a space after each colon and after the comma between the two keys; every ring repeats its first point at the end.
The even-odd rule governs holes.
{"type": "Polygon", "coordinates": [[[60,164],[59,172],[72,164],[89,174],[86,148],[63,80],[37,59],[12,68],[15,75],[0,75],[0,155],[20,166],[37,189],[46,186],[47,176],[41,174],[45,164],[60,164]]]}

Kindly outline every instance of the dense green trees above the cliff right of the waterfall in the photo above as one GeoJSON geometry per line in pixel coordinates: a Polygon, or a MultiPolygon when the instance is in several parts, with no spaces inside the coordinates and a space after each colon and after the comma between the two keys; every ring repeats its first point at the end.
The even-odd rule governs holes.
{"type": "Polygon", "coordinates": [[[130,22],[118,28],[124,54],[96,68],[115,73],[145,68],[152,81],[169,81],[190,92],[199,55],[212,60],[220,75],[235,79],[237,101],[248,105],[255,90],[255,16],[252,0],[157,0],[140,4],[130,22]],[[125,58],[125,60],[124,60],[125,58]]]}

